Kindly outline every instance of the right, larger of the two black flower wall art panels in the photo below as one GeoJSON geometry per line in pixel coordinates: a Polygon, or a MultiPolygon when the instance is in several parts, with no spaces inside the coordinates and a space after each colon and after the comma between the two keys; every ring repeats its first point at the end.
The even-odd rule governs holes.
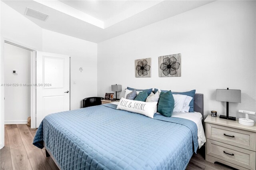
{"type": "Polygon", "coordinates": [[[164,55],[158,57],[159,77],[181,76],[181,54],[164,55]]]}

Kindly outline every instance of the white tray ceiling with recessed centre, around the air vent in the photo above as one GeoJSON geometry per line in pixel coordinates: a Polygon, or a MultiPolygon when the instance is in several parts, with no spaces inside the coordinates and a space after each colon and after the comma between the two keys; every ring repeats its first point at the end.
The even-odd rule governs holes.
{"type": "Polygon", "coordinates": [[[49,15],[24,15],[44,28],[99,43],[208,4],[210,0],[2,0],[24,15],[26,8],[49,15]]]}

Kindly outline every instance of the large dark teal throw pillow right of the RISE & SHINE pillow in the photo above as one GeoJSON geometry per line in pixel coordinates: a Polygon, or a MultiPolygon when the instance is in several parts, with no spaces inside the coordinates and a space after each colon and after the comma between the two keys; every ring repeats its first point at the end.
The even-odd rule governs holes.
{"type": "Polygon", "coordinates": [[[165,117],[171,117],[174,109],[174,98],[172,91],[161,92],[157,111],[165,117]]]}

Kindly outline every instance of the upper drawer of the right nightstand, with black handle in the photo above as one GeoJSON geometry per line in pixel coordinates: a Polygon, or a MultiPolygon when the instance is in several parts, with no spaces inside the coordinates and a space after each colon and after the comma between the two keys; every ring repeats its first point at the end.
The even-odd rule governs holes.
{"type": "Polygon", "coordinates": [[[256,133],[207,123],[207,138],[256,151],[256,133]]]}

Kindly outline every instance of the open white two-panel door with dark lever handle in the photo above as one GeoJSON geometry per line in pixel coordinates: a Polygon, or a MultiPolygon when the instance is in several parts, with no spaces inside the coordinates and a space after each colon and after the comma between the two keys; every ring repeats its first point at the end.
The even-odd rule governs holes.
{"type": "Polygon", "coordinates": [[[70,110],[70,57],[36,51],[36,127],[51,113],[70,110]]]}

